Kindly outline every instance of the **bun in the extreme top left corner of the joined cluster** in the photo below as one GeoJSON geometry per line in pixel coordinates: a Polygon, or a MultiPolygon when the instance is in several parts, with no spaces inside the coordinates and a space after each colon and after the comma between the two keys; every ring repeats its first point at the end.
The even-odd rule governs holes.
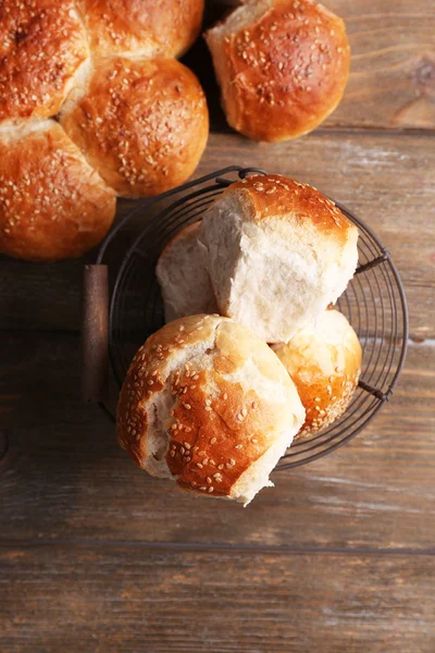
{"type": "Polygon", "coordinates": [[[74,2],[0,2],[0,123],[58,113],[88,56],[74,2]]]}

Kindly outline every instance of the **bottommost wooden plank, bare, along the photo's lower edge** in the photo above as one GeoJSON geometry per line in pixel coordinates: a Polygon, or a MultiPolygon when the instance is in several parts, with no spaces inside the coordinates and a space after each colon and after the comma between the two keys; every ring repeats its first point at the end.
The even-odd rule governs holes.
{"type": "Polygon", "coordinates": [[[0,550],[8,653],[433,653],[435,559],[0,550]]]}

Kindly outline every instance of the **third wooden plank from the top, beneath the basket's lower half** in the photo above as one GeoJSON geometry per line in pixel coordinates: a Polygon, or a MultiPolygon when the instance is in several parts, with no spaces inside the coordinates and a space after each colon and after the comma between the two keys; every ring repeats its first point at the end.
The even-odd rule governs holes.
{"type": "Polygon", "coordinates": [[[0,471],[0,541],[78,539],[433,549],[435,347],[413,345],[391,402],[341,449],[274,475],[247,508],[150,478],[79,403],[77,338],[3,337],[0,395],[21,395],[0,471]]]}

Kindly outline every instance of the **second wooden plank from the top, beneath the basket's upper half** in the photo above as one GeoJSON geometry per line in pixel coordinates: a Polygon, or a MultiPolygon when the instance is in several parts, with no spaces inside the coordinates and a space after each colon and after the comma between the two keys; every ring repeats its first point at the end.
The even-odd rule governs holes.
{"type": "MultiPolygon", "coordinates": [[[[411,335],[419,340],[435,335],[432,138],[318,133],[304,138],[303,146],[302,141],[265,146],[236,135],[211,135],[197,175],[228,164],[263,167],[295,176],[352,208],[396,261],[408,292],[411,335]]],[[[122,202],[120,215],[129,206],[122,202]]],[[[144,220],[146,214],[140,215],[144,220]]],[[[94,260],[92,255],[85,260],[94,260]]],[[[35,264],[3,259],[0,329],[77,330],[83,262],[35,264]]]]}

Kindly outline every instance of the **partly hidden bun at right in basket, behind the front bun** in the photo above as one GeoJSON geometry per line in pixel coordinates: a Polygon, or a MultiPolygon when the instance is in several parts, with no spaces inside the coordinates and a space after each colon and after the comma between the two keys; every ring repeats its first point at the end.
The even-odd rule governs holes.
{"type": "Polygon", "coordinates": [[[344,315],[326,310],[287,345],[273,345],[307,411],[296,438],[314,435],[348,407],[361,371],[361,345],[344,315]]]}

